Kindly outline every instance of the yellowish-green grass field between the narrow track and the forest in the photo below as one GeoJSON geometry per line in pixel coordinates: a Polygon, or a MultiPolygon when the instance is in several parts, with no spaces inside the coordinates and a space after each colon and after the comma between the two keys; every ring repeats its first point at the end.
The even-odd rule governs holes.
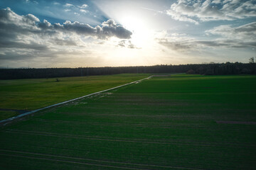
{"type": "MultiPolygon", "coordinates": [[[[149,74],[63,77],[58,78],[58,81],[56,79],[0,80],[0,108],[31,111],[145,77],[149,77],[149,74]]],[[[0,114],[1,119],[14,115],[10,111],[2,111],[0,114]]]]}

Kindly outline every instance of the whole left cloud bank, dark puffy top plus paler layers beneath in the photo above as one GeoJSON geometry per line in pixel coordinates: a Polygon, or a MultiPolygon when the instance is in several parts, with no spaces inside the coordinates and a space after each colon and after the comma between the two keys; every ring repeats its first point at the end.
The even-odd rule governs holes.
{"type": "Polygon", "coordinates": [[[93,40],[129,39],[131,35],[132,32],[111,19],[93,27],[78,21],[50,23],[32,14],[18,15],[11,8],[0,9],[0,60],[53,57],[63,51],[66,55],[75,55],[68,49],[83,55],[93,40]]]}

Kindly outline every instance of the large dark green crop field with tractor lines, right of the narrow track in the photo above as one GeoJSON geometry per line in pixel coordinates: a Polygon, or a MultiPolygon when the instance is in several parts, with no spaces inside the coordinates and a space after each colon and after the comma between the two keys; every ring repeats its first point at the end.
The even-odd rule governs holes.
{"type": "Polygon", "coordinates": [[[1,127],[0,167],[255,169],[255,87],[256,76],[177,74],[49,108],[1,127]]]}

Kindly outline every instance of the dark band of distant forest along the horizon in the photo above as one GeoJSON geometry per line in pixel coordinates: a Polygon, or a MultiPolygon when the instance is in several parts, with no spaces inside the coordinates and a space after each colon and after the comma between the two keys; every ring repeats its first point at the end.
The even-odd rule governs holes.
{"type": "Polygon", "coordinates": [[[0,69],[0,79],[36,79],[53,77],[85,77],[122,73],[187,73],[187,74],[256,74],[256,63],[208,63],[154,65],[137,67],[80,67],[43,69],[0,69]]]}

